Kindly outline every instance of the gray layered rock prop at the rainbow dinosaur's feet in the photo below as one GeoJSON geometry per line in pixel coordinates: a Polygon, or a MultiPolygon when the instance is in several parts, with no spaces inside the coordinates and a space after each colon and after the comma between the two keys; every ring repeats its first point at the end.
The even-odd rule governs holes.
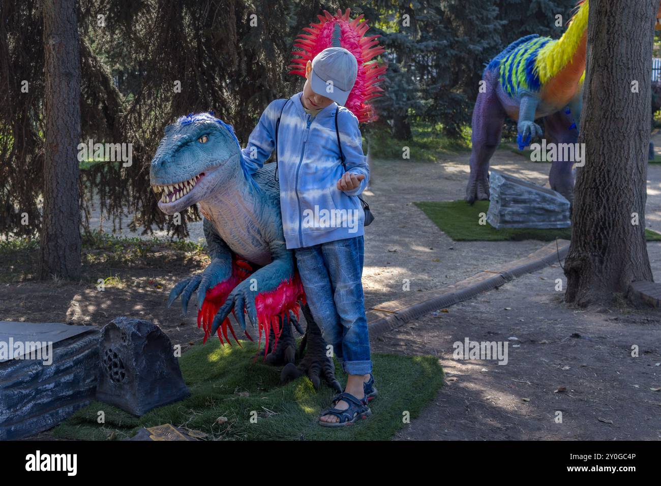
{"type": "Polygon", "coordinates": [[[562,194],[511,175],[491,171],[486,221],[500,228],[566,228],[569,201],[562,194]]]}

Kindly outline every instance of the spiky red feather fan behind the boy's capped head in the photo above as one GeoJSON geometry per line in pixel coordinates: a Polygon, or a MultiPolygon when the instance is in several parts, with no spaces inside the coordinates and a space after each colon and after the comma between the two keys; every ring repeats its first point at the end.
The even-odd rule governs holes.
{"type": "Polygon", "coordinates": [[[346,101],[346,108],[356,115],[358,122],[373,122],[377,115],[369,100],[381,96],[383,89],[379,88],[377,83],[382,81],[381,76],[385,73],[386,66],[372,60],[384,49],[379,46],[379,36],[365,36],[369,29],[367,20],[361,21],[362,15],[353,20],[349,19],[350,13],[351,9],[346,9],[344,14],[338,10],[337,15],[324,11],[324,15],[317,15],[318,24],[313,23],[303,28],[307,33],[299,34],[293,44],[300,50],[292,51],[297,57],[292,59],[290,73],[305,77],[307,61],[312,61],[319,52],[332,47],[334,26],[339,24],[340,46],[356,56],[358,61],[356,84],[346,101]]]}

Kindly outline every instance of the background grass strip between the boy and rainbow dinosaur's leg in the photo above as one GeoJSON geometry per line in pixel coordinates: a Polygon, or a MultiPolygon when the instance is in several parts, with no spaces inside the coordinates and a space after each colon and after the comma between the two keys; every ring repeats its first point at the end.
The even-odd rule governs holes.
{"type": "Polygon", "coordinates": [[[369,134],[369,147],[377,159],[402,159],[403,149],[408,147],[410,161],[435,162],[448,152],[470,150],[470,130],[467,126],[463,136],[454,140],[443,136],[440,124],[416,122],[411,127],[411,140],[395,140],[388,129],[381,128],[369,134]]]}

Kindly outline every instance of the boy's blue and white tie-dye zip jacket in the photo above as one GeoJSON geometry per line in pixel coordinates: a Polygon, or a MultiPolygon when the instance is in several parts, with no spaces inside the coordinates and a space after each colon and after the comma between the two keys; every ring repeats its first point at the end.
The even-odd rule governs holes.
{"type": "Polygon", "coordinates": [[[281,110],[278,178],[287,248],[362,236],[364,213],[357,196],[368,185],[369,167],[358,118],[344,106],[333,102],[313,117],[303,109],[301,93],[271,102],[242,151],[248,171],[254,174],[273,152],[281,110]],[[342,191],[336,185],[344,173],[335,134],[336,110],[346,169],[365,176],[354,190],[342,191]]]}

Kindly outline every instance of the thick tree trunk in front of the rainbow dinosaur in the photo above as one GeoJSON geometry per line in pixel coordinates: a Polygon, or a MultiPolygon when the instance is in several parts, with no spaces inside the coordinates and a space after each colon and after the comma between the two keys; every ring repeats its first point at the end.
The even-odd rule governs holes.
{"type": "Polygon", "coordinates": [[[644,228],[658,3],[590,0],[579,139],[586,158],[574,188],[566,302],[610,302],[631,282],[652,280],[644,228]]]}

